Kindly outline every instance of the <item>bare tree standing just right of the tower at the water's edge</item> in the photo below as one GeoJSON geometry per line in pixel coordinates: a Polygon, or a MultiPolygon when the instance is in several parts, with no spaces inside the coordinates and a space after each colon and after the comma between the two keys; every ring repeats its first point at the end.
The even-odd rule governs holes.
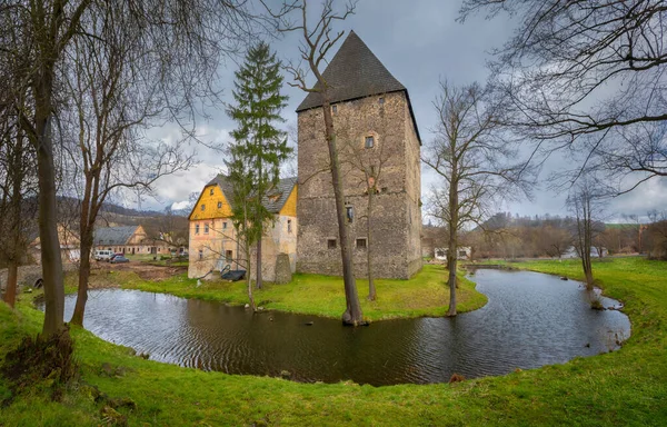
{"type": "Polygon", "coordinates": [[[440,90],[434,101],[438,113],[436,138],[422,161],[441,179],[441,187],[431,190],[431,215],[449,232],[447,316],[456,316],[459,232],[469,224],[484,226],[481,220],[490,216],[494,199],[524,183],[526,165],[511,163],[516,141],[505,137],[500,105],[491,102],[482,88],[441,82],[440,90]]]}

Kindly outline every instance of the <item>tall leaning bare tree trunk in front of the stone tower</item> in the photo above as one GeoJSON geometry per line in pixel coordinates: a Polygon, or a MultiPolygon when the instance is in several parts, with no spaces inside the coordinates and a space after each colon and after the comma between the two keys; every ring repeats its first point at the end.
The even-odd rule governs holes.
{"type": "Polygon", "coordinates": [[[346,218],[346,208],[342,190],[342,177],[340,173],[340,161],[338,159],[338,147],[336,146],[336,133],[334,131],[334,118],[331,117],[331,107],[329,99],[325,95],[322,112],[325,116],[325,136],[329,148],[329,160],[331,163],[331,185],[334,186],[334,197],[336,199],[336,217],[338,218],[338,236],[340,238],[340,255],[342,259],[342,280],[345,282],[345,299],[347,308],[342,314],[345,325],[362,325],[364,312],[357,294],[357,281],[352,265],[352,246],[349,237],[349,227],[346,218]]]}

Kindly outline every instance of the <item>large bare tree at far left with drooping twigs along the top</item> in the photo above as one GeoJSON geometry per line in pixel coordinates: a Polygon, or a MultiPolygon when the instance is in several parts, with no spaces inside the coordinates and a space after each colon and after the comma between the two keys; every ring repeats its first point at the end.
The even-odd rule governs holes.
{"type": "MultiPolygon", "coordinates": [[[[211,81],[221,53],[235,49],[235,42],[247,39],[251,17],[245,12],[243,4],[236,0],[225,3],[213,0],[198,3],[182,0],[0,1],[0,27],[26,29],[30,38],[21,44],[31,46],[34,51],[23,83],[31,93],[33,108],[20,111],[20,119],[37,151],[46,336],[63,327],[64,289],[56,218],[54,148],[59,141],[54,138],[53,125],[63,98],[60,79],[61,70],[67,69],[66,50],[74,40],[104,40],[104,34],[88,32],[90,28],[83,28],[82,22],[86,17],[94,21],[96,17],[108,17],[106,11],[117,10],[113,20],[103,24],[139,34],[133,46],[136,57],[153,60],[152,67],[160,70],[153,85],[165,93],[169,115],[185,123],[192,118],[193,101],[211,95],[211,81]]],[[[21,46],[2,41],[3,54],[20,54],[21,46]]]]}

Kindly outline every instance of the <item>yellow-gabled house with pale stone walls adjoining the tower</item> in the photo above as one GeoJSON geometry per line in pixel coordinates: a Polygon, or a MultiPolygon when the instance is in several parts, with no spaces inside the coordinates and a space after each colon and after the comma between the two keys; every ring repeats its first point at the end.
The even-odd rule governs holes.
{"type": "MultiPolygon", "coordinates": [[[[232,195],[232,186],[223,175],[213,178],[199,195],[189,216],[189,278],[216,278],[215,272],[227,265],[231,269],[246,269],[242,245],[237,240],[231,222],[232,195]],[[209,274],[211,271],[213,274],[209,274]]],[[[273,281],[279,254],[288,255],[292,272],[297,267],[297,179],[281,179],[265,197],[263,205],[276,216],[273,222],[265,228],[261,239],[262,278],[273,281]]],[[[255,277],[255,268],[251,277],[255,277]]]]}

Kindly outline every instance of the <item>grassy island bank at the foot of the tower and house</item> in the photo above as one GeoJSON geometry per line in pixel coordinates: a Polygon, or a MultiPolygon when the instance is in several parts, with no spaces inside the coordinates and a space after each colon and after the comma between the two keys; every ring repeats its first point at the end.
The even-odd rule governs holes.
{"type": "MultiPolygon", "coordinates": [[[[368,280],[357,280],[357,289],[366,320],[445,316],[449,304],[446,286],[446,269],[442,266],[427,265],[421,272],[409,280],[377,279],[377,299],[368,301],[368,280]]],[[[120,277],[120,276],[119,276],[120,277]]],[[[457,294],[459,312],[482,307],[487,299],[475,290],[475,284],[459,276],[457,294]]],[[[245,281],[202,281],[188,279],[186,275],[162,281],[146,281],[138,277],[119,280],[127,289],[150,292],[172,294],[183,298],[216,300],[235,305],[248,302],[245,281]]],[[[255,291],[259,306],[270,310],[300,312],[339,318],[345,311],[342,279],[331,276],[295,275],[287,285],[266,284],[255,291]]]]}

